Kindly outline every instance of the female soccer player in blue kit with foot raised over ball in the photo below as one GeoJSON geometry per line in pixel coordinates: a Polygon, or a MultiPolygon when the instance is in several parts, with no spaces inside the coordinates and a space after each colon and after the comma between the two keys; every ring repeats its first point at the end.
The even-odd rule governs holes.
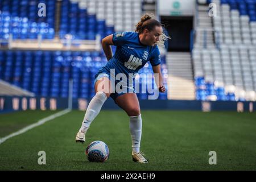
{"type": "MultiPolygon", "coordinates": [[[[112,97],[130,117],[130,133],[132,139],[132,157],[134,162],[148,163],[144,154],[139,150],[142,135],[142,118],[139,101],[134,91],[133,84],[125,81],[127,92],[110,92],[117,85],[117,81],[110,81],[118,73],[123,73],[129,78],[129,73],[137,73],[147,61],[150,61],[154,73],[159,74],[155,79],[159,92],[165,92],[162,73],[160,71],[160,52],[157,43],[163,42],[168,37],[163,34],[162,25],[150,15],[144,15],[136,26],[135,32],[117,32],[102,39],[102,48],[108,63],[98,71],[95,76],[96,95],[90,101],[82,122],[81,129],[76,135],[76,142],[85,142],[85,133],[90,123],[100,113],[104,102],[112,97]],[[160,40],[159,38],[163,38],[160,40]],[[117,46],[114,56],[110,46],[117,46]],[[114,73],[112,71],[114,70],[114,73]],[[111,73],[111,74],[110,74],[111,73]]],[[[133,77],[134,79],[134,77],[133,77]]],[[[122,80],[123,81],[123,80],[122,80]]],[[[115,90],[114,90],[115,91],[115,90]]]]}

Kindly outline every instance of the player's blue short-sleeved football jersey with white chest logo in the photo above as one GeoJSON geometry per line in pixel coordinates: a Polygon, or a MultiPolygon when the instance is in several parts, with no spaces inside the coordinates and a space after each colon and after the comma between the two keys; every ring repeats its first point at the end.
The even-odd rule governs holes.
{"type": "Polygon", "coordinates": [[[100,69],[100,72],[115,69],[118,73],[138,73],[147,61],[152,66],[160,64],[160,52],[158,46],[145,46],[139,40],[137,32],[116,32],[113,34],[113,43],[116,51],[112,59],[100,69]]]}

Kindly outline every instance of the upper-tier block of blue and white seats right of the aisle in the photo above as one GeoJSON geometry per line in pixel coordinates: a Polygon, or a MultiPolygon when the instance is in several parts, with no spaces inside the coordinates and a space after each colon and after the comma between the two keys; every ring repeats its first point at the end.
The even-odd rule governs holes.
{"type": "Polygon", "coordinates": [[[63,0],[59,35],[90,40],[97,34],[103,38],[114,31],[133,31],[141,11],[141,1],[63,0]]]}

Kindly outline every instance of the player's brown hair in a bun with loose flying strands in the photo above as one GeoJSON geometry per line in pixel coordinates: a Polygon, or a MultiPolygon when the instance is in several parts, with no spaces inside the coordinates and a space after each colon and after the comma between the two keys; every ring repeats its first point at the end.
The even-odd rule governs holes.
{"type": "MultiPolygon", "coordinates": [[[[147,29],[148,31],[152,31],[155,26],[162,27],[162,24],[158,22],[158,20],[154,19],[154,14],[144,14],[141,17],[141,21],[139,21],[136,25],[136,30],[138,34],[142,34],[142,32],[147,29]]],[[[159,46],[163,46],[164,41],[167,39],[171,39],[169,36],[162,34],[158,41],[159,46]]]]}

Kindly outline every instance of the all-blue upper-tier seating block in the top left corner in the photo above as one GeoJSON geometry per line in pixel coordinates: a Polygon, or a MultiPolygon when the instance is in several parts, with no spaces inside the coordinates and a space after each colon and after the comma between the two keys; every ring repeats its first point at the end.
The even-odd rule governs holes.
{"type": "Polygon", "coordinates": [[[44,0],[47,16],[38,15],[36,0],[0,1],[0,39],[53,39],[55,36],[55,1],[44,0]]]}

